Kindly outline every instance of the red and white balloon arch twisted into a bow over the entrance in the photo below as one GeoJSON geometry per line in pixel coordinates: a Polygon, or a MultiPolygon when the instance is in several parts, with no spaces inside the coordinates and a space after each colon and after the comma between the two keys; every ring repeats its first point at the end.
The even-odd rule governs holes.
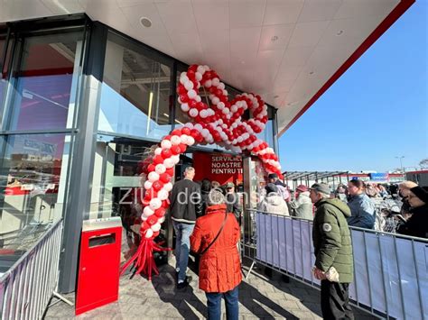
{"type": "MultiPolygon", "coordinates": [[[[168,196],[172,190],[171,178],[180,154],[195,143],[217,143],[229,151],[249,151],[262,160],[268,173],[282,178],[281,166],[274,150],[256,137],[265,130],[267,107],[258,95],[244,93],[228,101],[228,91],[216,71],[208,66],[192,65],[182,72],[177,87],[181,110],[189,114],[193,123],[186,123],[163,137],[149,155],[140,163],[146,180],[144,197],[141,199],[143,214],[140,234],[142,240],[134,256],[122,268],[122,274],[134,262],[135,272],[152,279],[152,272],[159,274],[154,263],[154,251],[167,251],[154,238],[161,230],[169,206],[168,196]],[[200,87],[209,92],[210,105],[202,101],[200,87]],[[249,110],[252,118],[243,120],[242,114],[249,110]]],[[[208,102],[208,100],[207,100],[208,102]]]]}

